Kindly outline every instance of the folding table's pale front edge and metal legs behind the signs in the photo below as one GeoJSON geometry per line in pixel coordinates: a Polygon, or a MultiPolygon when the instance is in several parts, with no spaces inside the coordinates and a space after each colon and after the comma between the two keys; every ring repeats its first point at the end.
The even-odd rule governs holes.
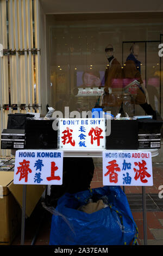
{"type": "MultiPolygon", "coordinates": [[[[64,151],[64,157],[102,157],[103,151],[64,151]]],[[[105,149],[105,151],[107,151],[105,149]]],[[[110,151],[110,150],[109,150],[110,151]]],[[[113,150],[117,151],[117,150],[113,150]]],[[[122,151],[122,150],[121,150],[122,151]]],[[[132,151],[132,150],[129,150],[132,151]]],[[[133,150],[135,151],[135,150],[133,150]]],[[[151,151],[152,157],[158,155],[158,149],[153,150],[137,150],[137,151],[151,151]]],[[[23,185],[23,197],[22,197],[22,226],[21,226],[21,245],[24,245],[24,236],[25,236],[25,221],[26,221],[26,191],[27,185],[23,185]]],[[[125,186],[123,186],[123,192],[125,193],[125,186]]],[[[46,192],[47,193],[47,187],[46,192]]],[[[46,197],[46,195],[45,195],[46,197]]],[[[143,208],[143,236],[144,236],[144,245],[147,245],[147,209],[146,209],[146,188],[142,186],[142,208],[143,208]]]]}

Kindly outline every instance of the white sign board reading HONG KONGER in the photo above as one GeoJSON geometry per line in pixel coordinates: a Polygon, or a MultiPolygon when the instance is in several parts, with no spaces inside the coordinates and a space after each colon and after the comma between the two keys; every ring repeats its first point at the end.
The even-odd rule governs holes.
{"type": "Polygon", "coordinates": [[[63,152],[17,150],[14,184],[62,185],[63,152]]]}

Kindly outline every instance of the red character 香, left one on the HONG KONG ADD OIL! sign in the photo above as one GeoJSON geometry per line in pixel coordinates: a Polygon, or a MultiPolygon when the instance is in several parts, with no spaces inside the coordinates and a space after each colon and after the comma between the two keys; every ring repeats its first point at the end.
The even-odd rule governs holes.
{"type": "Polygon", "coordinates": [[[117,183],[118,182],[118,174],[116,172],[120,172],[121,169],[118,167],[118,164],[116,163],[116,160],[112,160],[108,162],[110,166],[106,166],[108,169],[108,172],[104,174],[104,176],[109,175],[109,181],[117,183]]]}

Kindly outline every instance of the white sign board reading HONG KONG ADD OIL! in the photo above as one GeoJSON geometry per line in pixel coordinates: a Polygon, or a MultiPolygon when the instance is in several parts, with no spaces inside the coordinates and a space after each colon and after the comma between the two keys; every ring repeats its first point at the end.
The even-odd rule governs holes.
{"type": "Polygon", "coordinates": [[[103,185],[153,186],[151,152],[103,151],[103,185]]]}

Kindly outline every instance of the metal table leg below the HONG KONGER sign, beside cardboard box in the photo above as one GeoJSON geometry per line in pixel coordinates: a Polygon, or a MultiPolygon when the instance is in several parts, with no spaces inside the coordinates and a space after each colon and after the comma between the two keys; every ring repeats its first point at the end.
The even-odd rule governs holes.
{"type": "Polygon", "coordinates": [[[26,191],[27,191],[27,185],[23,185],[21,245],[24,245],[24,236],[25,236],[25,222],[26,222],[26,191]]]}

